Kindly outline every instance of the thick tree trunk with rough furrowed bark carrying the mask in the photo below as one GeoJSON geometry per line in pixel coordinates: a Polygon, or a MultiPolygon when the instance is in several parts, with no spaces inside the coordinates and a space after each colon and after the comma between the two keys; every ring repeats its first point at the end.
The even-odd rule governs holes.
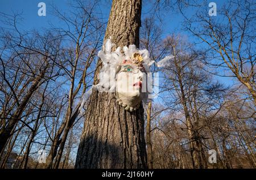
{"type": "MultiPolygon", "coordinates": [[[[112,37],[117,46],[139,46],[141,0],[113,0],[105,40],[112,37]]],[[[98,61],[94,84],[101,69],[98,61]]],[[[143,106],[127,112],[117,104],[113,93],[90,96],[84,130],[75,168],[147,168],[143,106]]]]}

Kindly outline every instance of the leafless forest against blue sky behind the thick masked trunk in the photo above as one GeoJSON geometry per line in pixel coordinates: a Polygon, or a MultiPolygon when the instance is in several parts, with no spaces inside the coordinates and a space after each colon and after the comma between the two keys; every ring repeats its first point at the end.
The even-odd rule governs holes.
{"type": "MultiPolygon", "coordinates": [[[[69,13],[52,7],[63,27],[42,31],[19,29],[22,15],[1,13],[0,168],[75,167],[88,108],[80,100],[92,87],[107,22],[96,10],[101,1],[72,2],[69,13]]],[[[158,98],[144,105],[148,167],[256,168],[255,3],[227,1],[216,18],[203,2],[150,3],[139,48],[156,62],[174,58],[152,67],[160,79],[158,98]],[[197,11],[187,17],[191,6],[197,11]],[[196,41],[165,35],[164,11],[183,14],[183,31],[196,41]],[[211,149],[217,163],[208,161],[211,149]]]]}

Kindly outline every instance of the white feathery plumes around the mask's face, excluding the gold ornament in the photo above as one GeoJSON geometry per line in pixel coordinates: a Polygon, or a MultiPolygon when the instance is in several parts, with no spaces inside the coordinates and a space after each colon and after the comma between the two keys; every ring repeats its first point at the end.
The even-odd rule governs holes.
{"type": "MultiPolygon", "coordinates": [[[[112,52],[112,48],[115,46],[111,42],[111,38],[106,40],[103,45],[102,50],[98,52],[98,57],[102,61],[102,68],[100,73],[98,74],[99,83],[93,85],[92,88],[89,89],[88,92],[84,93],[81,98],[81,106],[80,112],[82,111],[85,102],[88,100],[92,90],[95,88],[99,92],[114,92],[115,91],[115,69],[122,64],[124,59],[130,59],[133,57],[134,53],[139,53],[143,58],[143,67],[147,72],[150,72],[150,66],[155,63],[158,67],[170,66],[170,59],[174,58],[173,55],[168,55],[164,57],[161,61],[156,63],[150,59],[150,55],[148,50],[142,49],[139,50],[135,45],[129,45],[129,47],[124,46],[123,52],[121,53],[121,47],[118,47],[114,52],[112,52]]],[[[150,78],[149,78],[150,79],[150,78]]],[[[148,82],[147,82],[148,83],[148,82]]],[[[150,82],[152,83],[152,82],[150,82]]],[[[144,95],[143,101],[147,101],[147,95],[144,95]]]]}

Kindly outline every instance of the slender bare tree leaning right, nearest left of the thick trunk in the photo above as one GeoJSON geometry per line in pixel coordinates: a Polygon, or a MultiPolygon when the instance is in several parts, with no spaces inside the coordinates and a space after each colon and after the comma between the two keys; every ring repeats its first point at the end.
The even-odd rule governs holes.
{"type": "Polygon", "coordinates": [[[69,130],[77,121],[81,109],[81,101],[75,105],[75,100],[77,96],[81,98],[89,87],[86,79],[88,74],[92,73],[90,71],[90,65],[94,60],[97,49],[100,47],[99,42],[102,28],[101,22],[94,16],[94,7],[96,5],[97,1],[94,1],[92,5],[86,5],[83,1],[77,1],[73,5],[73,10],[77,12],[75,16],[64,15],[57,8],[54,9],[54,14],[68,24],[67,28],[54,28],[54,30],[63,34],[73,46],[65,50],[64,59],[67,59],[67,62],[64,62],[61,66],[64,68],[67,78],[70,80],[67,111],[63,117],[63,122],[61,122],[53,138],[52,146],[47,157],[47,168],[59,167],[69,130]],[[70,68],[66,66],[70,66],[70,68]],[[81,66],[84,67],[82,67],[82,72],[79,72],[81,66]],[[78,78],[78,73],[81,78],[79,83],[76,84],[75,81],[78,78]],[[80,93],[81,88],[82,92],[80,93]]]}

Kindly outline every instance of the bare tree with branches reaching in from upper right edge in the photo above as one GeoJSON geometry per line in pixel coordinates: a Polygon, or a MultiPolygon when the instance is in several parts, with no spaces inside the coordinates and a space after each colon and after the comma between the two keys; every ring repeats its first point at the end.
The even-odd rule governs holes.
{"type": "Polygon", "coordinates": [[[229,1],[218,8],[216,17],[206,16],[208,10],[200,10],[187,20],[186,28],[208,45],[208,59],[212,60],[208,65],[228,68],[256,104],[254,6],[250,1],[229,1]]]}

